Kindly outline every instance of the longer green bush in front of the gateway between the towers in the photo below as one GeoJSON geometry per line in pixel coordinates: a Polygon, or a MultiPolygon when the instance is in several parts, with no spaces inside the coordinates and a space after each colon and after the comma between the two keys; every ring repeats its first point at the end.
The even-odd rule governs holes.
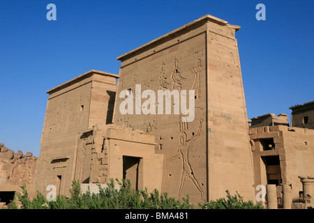
{"type": "MultiPolygon", "coordinates": [[[[22,209],[188,209],[193,208],[189,197],[174,199],[168,197],[167,193],[159,194],[158,190],[147,192],[145,190],[132,190],[130,180],[119,182],[119,190],[114,188],[114,180],[110,180],[107,187],[99,185],[99,193],[82,193],[79,181],[73,181],[70,189],[70,197],[59,195],[56,201],[47,201],[43,194],[37,192],[36,197],[29,199],[25,185],[22,186],[22,193],[16,194],[22,204],[22,209]]],[[[13,203],[12,208],[17,208],[13,203]]]]}

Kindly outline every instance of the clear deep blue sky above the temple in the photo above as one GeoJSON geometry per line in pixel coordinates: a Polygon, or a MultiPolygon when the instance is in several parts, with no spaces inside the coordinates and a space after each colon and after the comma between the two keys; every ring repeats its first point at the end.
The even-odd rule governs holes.
{"type": "Polygon", "coordinates": [[[0,142],[38,156],[45,91],[88,70],[118,74],[124,54],[210,14],[241,26],[248,118],[314,100],[314,1],[0,0],[0,142]],[[48,21],[48,3],[57,21],[48,21]],[[257,21],[257,3],[266,20],[257,21]]]}

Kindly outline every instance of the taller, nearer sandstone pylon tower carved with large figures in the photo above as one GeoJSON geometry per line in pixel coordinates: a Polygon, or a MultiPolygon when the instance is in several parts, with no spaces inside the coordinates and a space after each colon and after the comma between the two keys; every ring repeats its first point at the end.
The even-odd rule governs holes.
{"type": "Polygon", "coordinates": [[[254,199],[237,30],[239,26],[205,15],[117,58],[121,68],[113,122],[155,135],[155,153],[164,157],[162,190],[172,197],[189,194],[197,202],[225,197],[229,190],[254,199]],[[170,114],[158,114],[158,106],[166,105],[157,96],[155,114],[135,114],[145,107],[141,97],[133,114],[124,114],[120,105],[125,98],[119,93],[135,95],[137,84],[140,93],[149,89],[156,95],[158,90],[186,90],[187,100],[194,90],[194,121],[174,114],[178,102],[173,97],[170,114]]]}

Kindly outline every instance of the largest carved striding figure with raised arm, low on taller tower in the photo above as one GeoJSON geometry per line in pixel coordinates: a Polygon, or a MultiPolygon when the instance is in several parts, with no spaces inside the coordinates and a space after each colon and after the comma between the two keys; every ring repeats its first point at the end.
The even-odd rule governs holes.
{"type": "Polygon", "coordinates": [[[179,185],[178,197],[181,196],[182,188],[184,186],[184,181],[186,180],[186,178],[190,178],[190,180],[192,180],[193,184],[195,185],[197,190],[200,192],[201,198],[202,198],[202,194],[204,193],[202,191],[202,188],[200,187],[200,184],[197,182],[193,174],[193,170],[192,170],[192,167],[190,166],[190,162],[188,159],[188,150],[190,149],[190,146],[198,137],[200,137],[201,130],[202,130],[202,121],[203,119],[200,118],[200,125],[198,126],[197,133],[191,139],[187,139],[186,132],[180,133],[179,146],[177,148],[177,153],[174,156],[167,159],[167,161],[171,161],[171,160],[174,160],[178,155],[181,155],[182,157],[181,160],[182,160],[183,168],[181,172],[181,182],[179,185]]]}

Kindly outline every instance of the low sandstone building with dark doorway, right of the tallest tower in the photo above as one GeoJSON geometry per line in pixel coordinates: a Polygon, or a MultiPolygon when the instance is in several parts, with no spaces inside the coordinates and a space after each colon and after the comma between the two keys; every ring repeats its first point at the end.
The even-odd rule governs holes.
{"type": "Polygon", "coordinates": [[[251,128],[249,133],[255,186],[266,185],[280,174],[278,184],[291,185],[292,199],[298,201],[302,190],[299,176],[314,175],[314,130],[277,125],[251,128]],[[267,168],[269,157],[278,157],[278,171],[267,168]]]}

